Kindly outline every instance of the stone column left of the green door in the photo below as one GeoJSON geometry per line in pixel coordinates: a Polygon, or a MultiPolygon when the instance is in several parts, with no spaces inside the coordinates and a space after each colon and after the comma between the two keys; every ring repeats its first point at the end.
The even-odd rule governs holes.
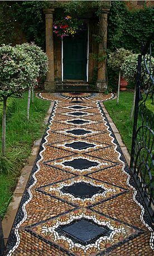
{"type": "Polygon", "coordinates": [[[45,90],[54,92],[54,36],[53,36],[53,13],[54,9],[45,9],[46,22],[46,54],[49,58],[49,71],[46,75],[45,90]]]}

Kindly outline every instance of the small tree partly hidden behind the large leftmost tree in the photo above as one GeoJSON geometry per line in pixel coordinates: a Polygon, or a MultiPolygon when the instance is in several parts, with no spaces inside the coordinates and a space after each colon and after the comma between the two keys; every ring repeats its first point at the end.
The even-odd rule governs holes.
{"type": "MultiPolygon", "coordinates": [[[[33,59],[33,62],[39,67],[39,76],[44,77],[46,76],[46,72],[48,71],[48,59],[46,53],[43,50],[35,45],[34,43],[25,43],[16,45],[16,48],[19,50],[23,50],[23,52],[30,55],[33,59]]],[[[30,101],[31,101],[31,90],[28,91],[28,102],[27,102],[27,119],[30,118],[30,101]]],[[[32,88],[32,103],[33,103],[33,88],[32,88]]]]}

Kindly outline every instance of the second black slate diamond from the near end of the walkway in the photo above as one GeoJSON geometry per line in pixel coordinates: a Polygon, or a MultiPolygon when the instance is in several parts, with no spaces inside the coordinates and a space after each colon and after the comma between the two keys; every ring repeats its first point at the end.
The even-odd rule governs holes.
{"type": "Polygon", "coordinates": [[[92,184],[85,183],[81,181],[79,183],[74,183],[71,186],[65,186],[61,189],[63,193],[73,194],[74,197],[79,197],[81,199],[90,198],[97,193],[103,193],[105,189],[101,187],[95,187],[92,184]]]}

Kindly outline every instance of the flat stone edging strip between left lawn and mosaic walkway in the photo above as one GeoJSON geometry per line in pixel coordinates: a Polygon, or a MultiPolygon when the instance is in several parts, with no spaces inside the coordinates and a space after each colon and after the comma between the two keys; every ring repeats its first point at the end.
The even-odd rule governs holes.
{"type": "MultiPolygon", "coordinates": [[[[44,119],[45,125],[47,125],[47,123],[48,123],[53,106],[54,106],[54,102],[52,101],[50,104],[50,108],[47,111],[46,117],[44,119]]],[[[6,215],[3,218],[2,228],[3,228],[5,244],[7,243],[9,233],[11,232],[13,223],[15,221],[18,207],[20,206],[22,195],[25,191],[27,181],[30,177],[33,164],[34,164],[36,157],[39,153],[41,140],[42,140],[42,137],[40,139],[37,139],[37,141],[35,143],[33,143],[31,155],[27,159],[27,164],[21,170],[21,175],[20,175],[20,178],[18,179],[18,183],[17,183],[17,187],[15,189],[15,192],[13,193],[12,201],[9,203],[6,215]]]]}

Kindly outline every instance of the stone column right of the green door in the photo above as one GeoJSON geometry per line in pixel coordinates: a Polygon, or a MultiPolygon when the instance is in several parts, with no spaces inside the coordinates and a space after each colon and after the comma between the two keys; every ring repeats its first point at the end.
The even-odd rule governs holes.
{"type": "MultiPolygon", "coordinates": [[[[107,27],[108,27],[108,12],[109,10],[102,11],[99,20],[99,35],[102,41],[98,46],[98,54],[103,56],[107,52],[107,27]]],[[[107,72],[106,72],[106,59],[98,63],[98,78],[97,78],[97,89],[104,91],[107,89],[107,72]]]]}

